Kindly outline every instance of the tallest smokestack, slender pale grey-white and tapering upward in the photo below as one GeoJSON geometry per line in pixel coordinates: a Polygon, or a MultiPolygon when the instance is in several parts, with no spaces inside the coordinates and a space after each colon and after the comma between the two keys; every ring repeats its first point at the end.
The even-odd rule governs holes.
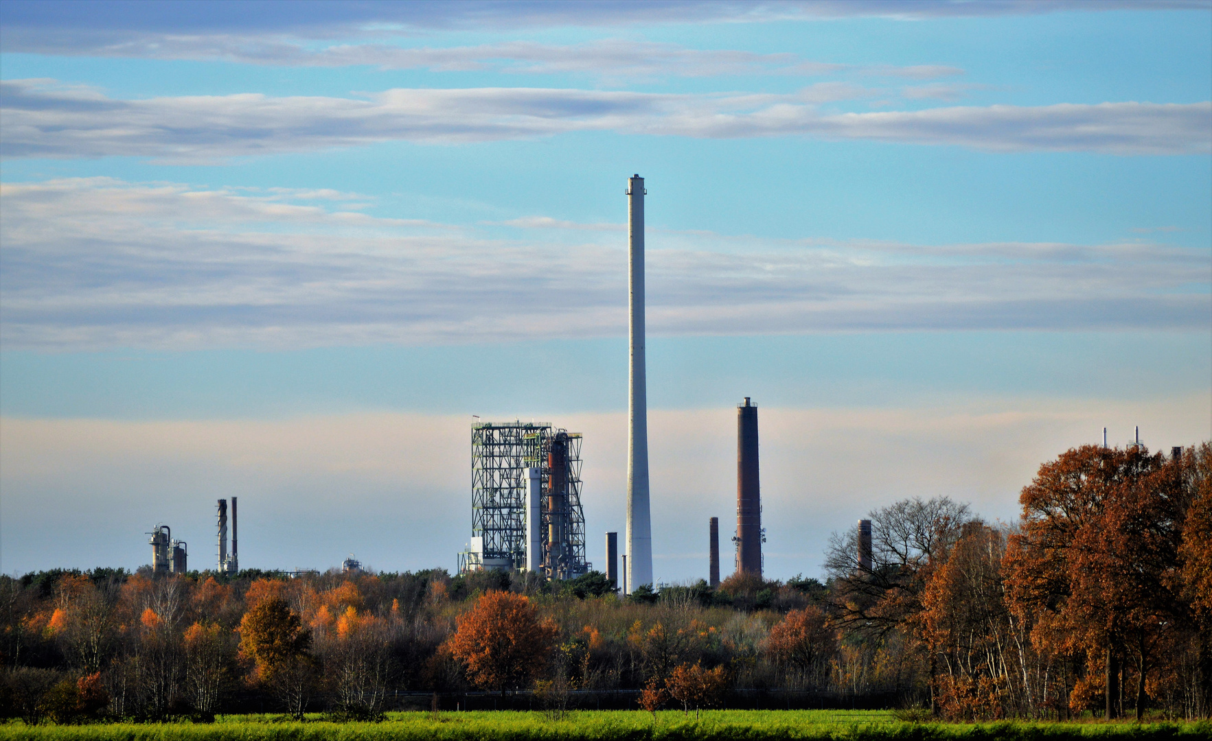
{"type": "Polygon", "coordinates": [[[644,363],[644,178],[627,183],[631,363],[628,374],[627,567],[623,588],[652,584],[652,521],[648,512],[648,401],[644,363]]]}

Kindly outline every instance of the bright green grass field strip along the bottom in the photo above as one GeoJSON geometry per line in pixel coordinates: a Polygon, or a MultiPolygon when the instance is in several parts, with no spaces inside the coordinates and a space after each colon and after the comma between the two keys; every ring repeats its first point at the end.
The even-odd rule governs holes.
{"type": "Polygon", "coordinates": [[[839,739],[850,741],[1016,741],[1065,739],[1212,739],[1212,723],[903,723],[874,711],[704,711],[690,718],[662,711],[574,711],[560,719],[538,712],[389,713],[382,723],[305,723],[273,716],[225,716],[213,724],[104,723],[92,725],[0,725],[0,739],[51,741],[395,741],[450,740],[674,740],[765,741],[839,739]]]}

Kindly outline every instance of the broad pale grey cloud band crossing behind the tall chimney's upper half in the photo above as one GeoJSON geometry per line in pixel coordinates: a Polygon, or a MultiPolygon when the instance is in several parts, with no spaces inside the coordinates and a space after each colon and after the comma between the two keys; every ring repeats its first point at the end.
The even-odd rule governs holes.
{"type": "MultiPolygon", "coordinates": [[[[5,184],[0,339],[79,350],[625,333],[617,225],[511,223],[554,230],[536,243],[525,231],[499,239],[484,226],[342,211],[344,194],[302,196],[109,179],[5,184]],[[598,242],[581,241],[595,234],[598,242]]],[[[653,231],[648,327],[1204,327],[1210,299],[1193,280],[1206,281],[1207,262],[1206,252],[1147,242],[917,246],[653,231]]]]}

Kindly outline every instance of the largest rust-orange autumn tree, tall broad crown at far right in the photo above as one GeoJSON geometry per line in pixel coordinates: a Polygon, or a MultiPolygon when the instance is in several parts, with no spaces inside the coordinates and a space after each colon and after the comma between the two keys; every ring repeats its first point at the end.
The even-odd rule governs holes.
{"type": "Polygon", "coordinates": [[[1102,668],[1109,717],[1131,659],[1140,718],[1157,648],[1182,621],[1174,587],[1187,496],[1177,466],[1139,446],[1084,446],[1044,464],[1019,501],[1022,529],[1005,559],[1012,604],[1030,613],[1037,645],[1102,668]]]}

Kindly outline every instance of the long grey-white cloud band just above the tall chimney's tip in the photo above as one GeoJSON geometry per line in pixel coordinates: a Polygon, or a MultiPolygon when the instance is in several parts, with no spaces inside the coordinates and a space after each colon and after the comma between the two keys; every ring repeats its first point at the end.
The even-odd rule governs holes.
{"type": "Polygon", "coordinates": [[[0,153],[149,156],[173,162],[359,147],[485,142],[574,131],[696,138],[805,136],[987,151],[1117,155],[1212,150],[1212,103],[1062,103],[822,113],[863,94],[825,82],[791,94],[673,94],[548,88],[394,88],[365,98],[244,93],[122,100],[46,81],[2,84],[0,153]]]}

